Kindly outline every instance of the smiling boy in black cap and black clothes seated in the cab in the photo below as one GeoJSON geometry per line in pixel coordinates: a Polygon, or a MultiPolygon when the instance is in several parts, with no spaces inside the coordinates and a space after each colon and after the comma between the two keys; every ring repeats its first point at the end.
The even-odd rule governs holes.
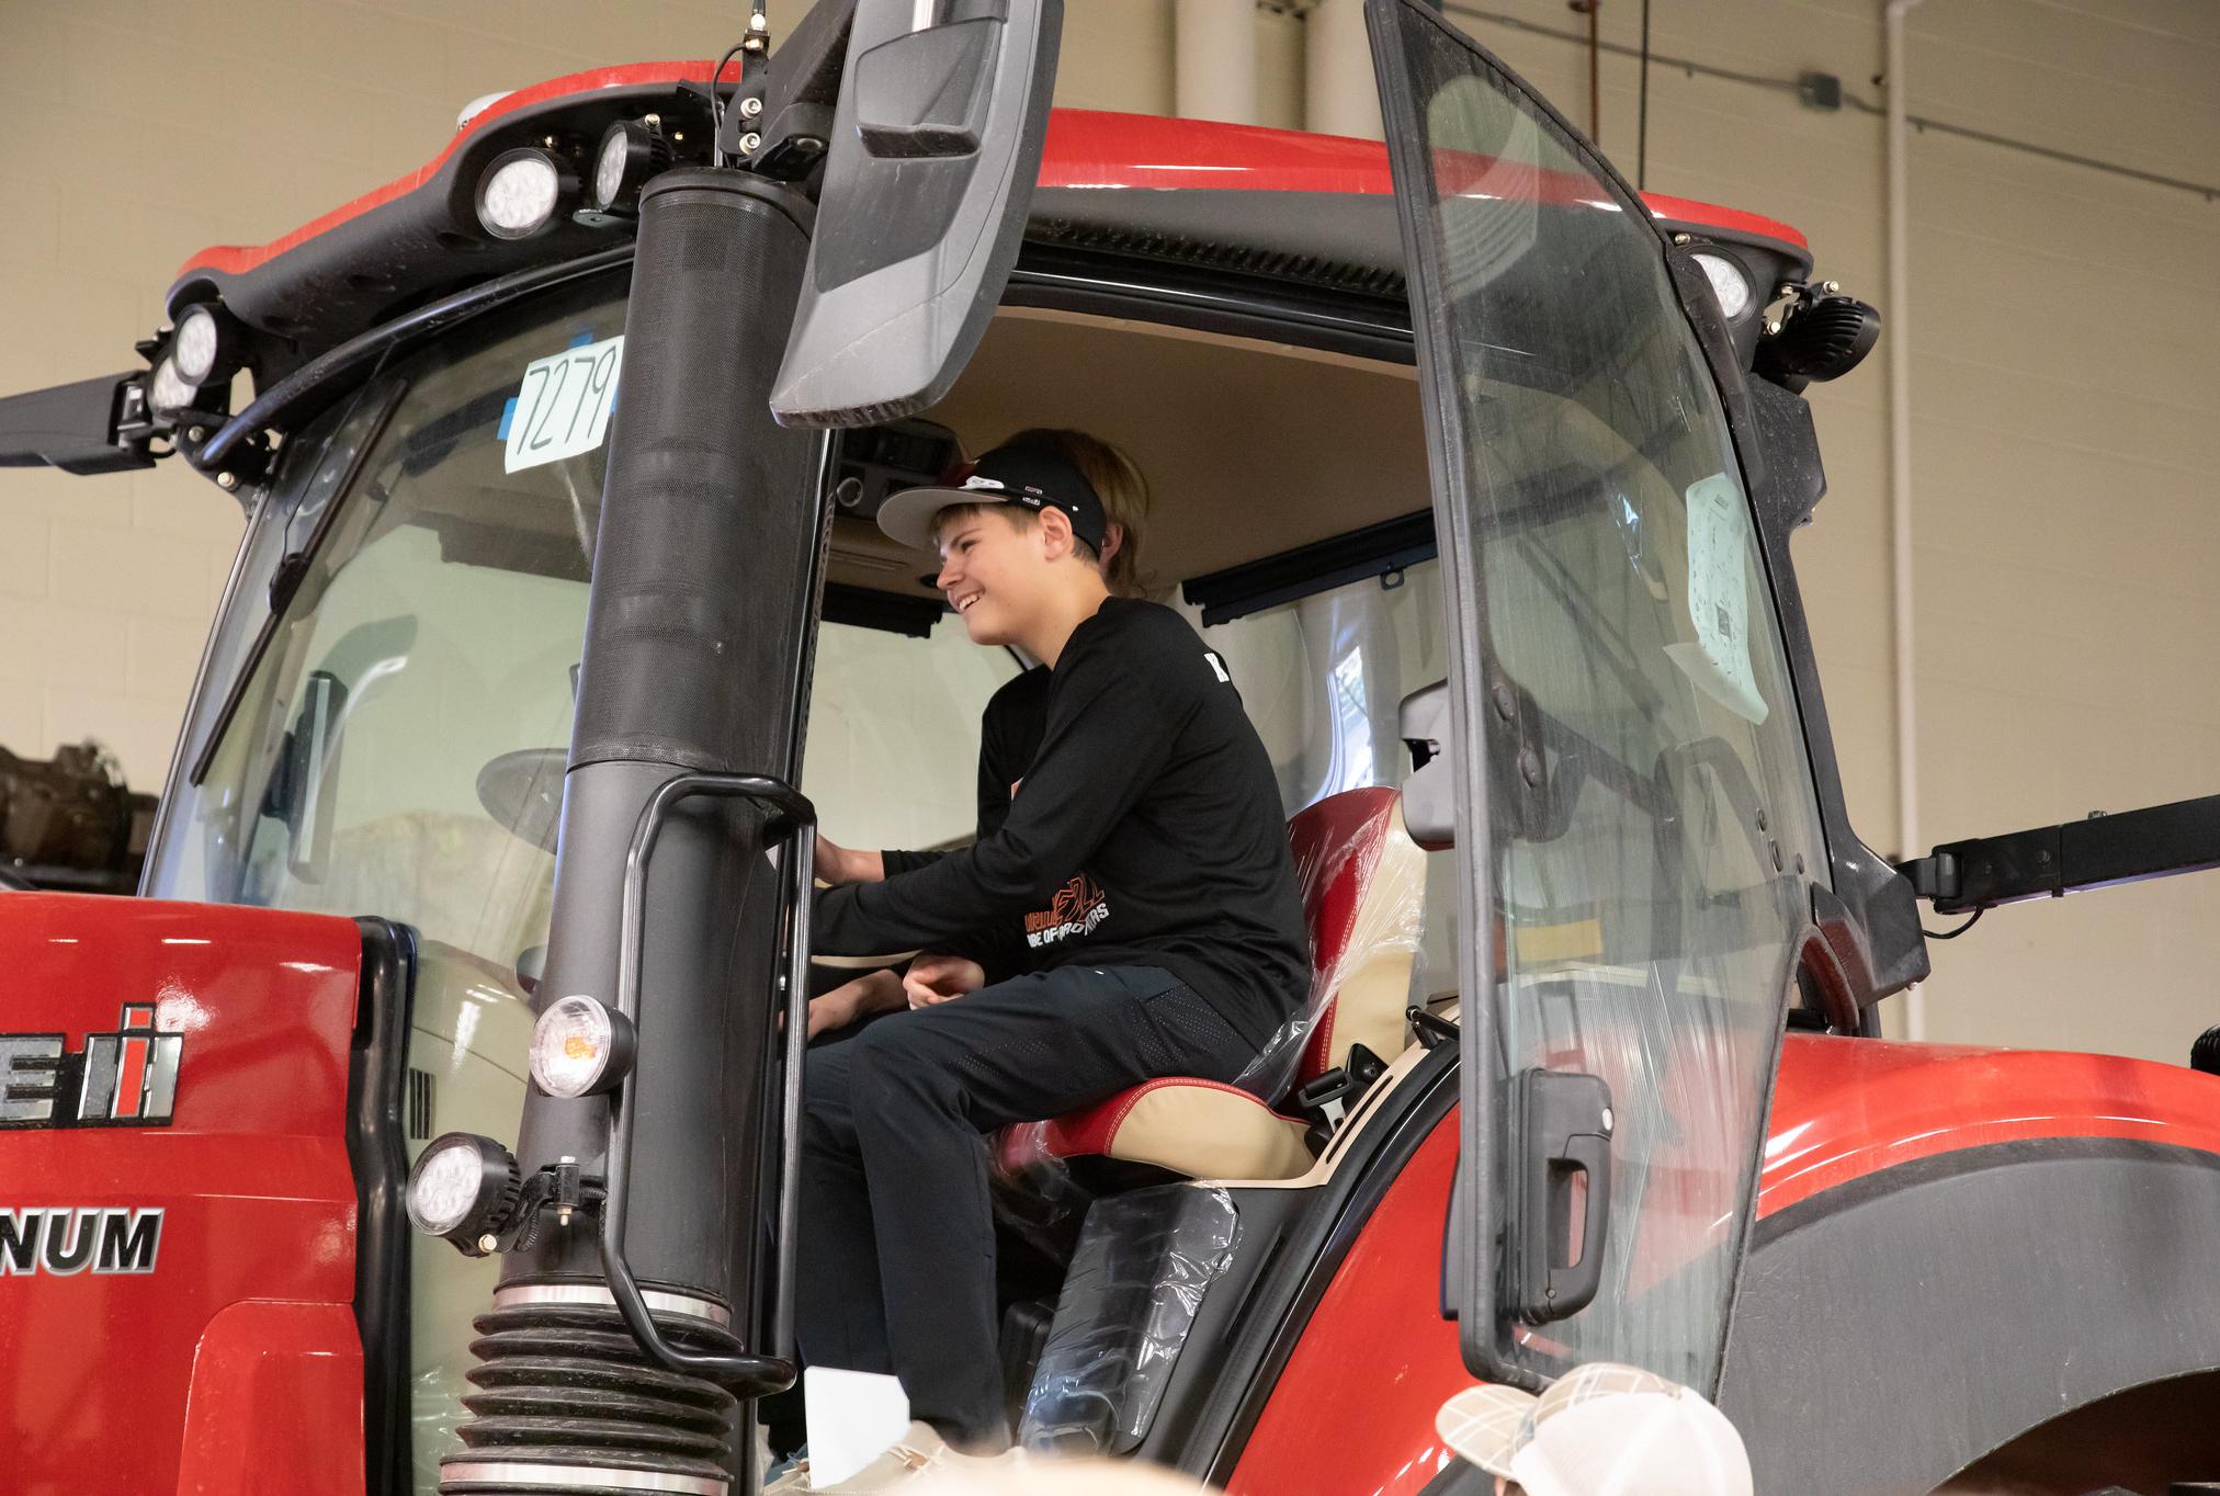
{"type": "Polygon", "coordinates": [[[879,524],[939,548],[975,644],[1021,646],[1050,675],[1001,826],[817,899],[819,952],[988,930],[1010,952],[997,966],[1021,972],[988,983],[966,957],[919,959],[910,1012],[810,1054],[801,1350],[897,1374],[919,1421],[906,1456],[839,1489],[1008,1447],[983,1134],[1163,1074],[1237,1079],[1310,970],[1263,744],[1185,619],[1110,595],[1103,506],[1079,468],[1003,446],[963,488],[888,499],[879,524]]]}

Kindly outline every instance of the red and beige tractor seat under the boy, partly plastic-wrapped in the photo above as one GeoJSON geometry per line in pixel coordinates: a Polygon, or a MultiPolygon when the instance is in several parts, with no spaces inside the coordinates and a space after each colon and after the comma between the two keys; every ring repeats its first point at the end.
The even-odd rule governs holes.
{"type": "MultiPolygon", "coordinates": [[[[1410,966],[1425,912],[1425,852],[1403,828],[1396,790],[1345,790],[1288,821],[1310,926],[1310,1032],[1292,1094],[1363,1043],[1403,1052],[1410,966]]],[[[1012,1128],[1003,1161],[1123,1159],[1192,1179],[1294,1179],[1310,1172],[1305,1123],[1219,1081],[1166,1076],[1035,1128],[1012,1128]]]]}

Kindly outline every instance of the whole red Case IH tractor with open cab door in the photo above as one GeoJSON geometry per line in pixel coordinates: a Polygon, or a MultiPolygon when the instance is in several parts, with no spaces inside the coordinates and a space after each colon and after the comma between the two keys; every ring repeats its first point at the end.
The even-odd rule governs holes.
{"type": "Polygon", "coordinates": [[[1869,850],[1789,535],[1876,313],[1370,24],[1385,149],[1050,113],[1054,0],[819,0],[504,95],[0,402],[0,462],[246,511],[144,897],[0,894],[0,1485],[755,1489],[810,832],[966,837],[1019,668],[870,515],[1039,424],[1152,477],[1314,1008],[1276,1105],[1003,1141],[1028,1443],[1485,1492],[1443,1398],[1625,1361],[1760,1492],[2220,1474],[2220,1081],[1874,1019],[1918,897],[2211,863],[2213,806],[1869,850]]]}

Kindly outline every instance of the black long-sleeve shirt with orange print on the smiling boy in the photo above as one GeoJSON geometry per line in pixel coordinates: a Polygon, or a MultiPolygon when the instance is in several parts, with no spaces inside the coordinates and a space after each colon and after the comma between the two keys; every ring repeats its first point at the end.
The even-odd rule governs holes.
{"type": "Polygon", "coordinates": [[[1081,621],[1001,823],[819,892],[813,937],[830,954],[946,950],[983,926],[1021,937],[1030,970],[1161,966],[1257,1043],[1301,1003],[1310,950],[1272,761],[1225,664],[1170,608],[1112,597],[1081,621]]]}

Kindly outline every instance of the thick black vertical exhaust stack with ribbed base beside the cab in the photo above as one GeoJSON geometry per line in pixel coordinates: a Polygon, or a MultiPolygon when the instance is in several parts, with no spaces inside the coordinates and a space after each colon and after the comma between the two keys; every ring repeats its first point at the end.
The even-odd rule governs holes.
{"type": "Polygon", "coordinates": [[[617,1274],[604,1274],[595,1201],[610,1099],[526,1094],[524,1179],[568,1179],[584,1203],[557,1194],[533,1216],[475,1321],[473,1418],[440,1480],[455,1496],[753,1489],[733,1389],[790,1376],[757,1323],[770,1139],[755,1119],[788,946],[786,879],[766,848],[799,817],[715,779],[677,790],[799,772],[824,437],[777,426],[768,402],[808,226],[799,193],[741,171],[668,171],[642,193],[537,1003],[617,1008],[635,985],[619,977],[626,861],[655,801],[633,1063],[648,1083],[617,1101],[630,1134],[617,1274]],[[637,1283],[624,1296],[633,1318],[653,1316],[655,1354],[610,1276],[637,1283]]]}

